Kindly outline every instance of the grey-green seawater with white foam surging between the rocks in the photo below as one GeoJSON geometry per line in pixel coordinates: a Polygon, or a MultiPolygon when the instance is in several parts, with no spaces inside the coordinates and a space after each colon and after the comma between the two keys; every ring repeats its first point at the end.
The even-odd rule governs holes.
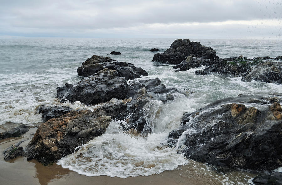
{"type": "MultiPolygon", "coordinates": [[[[217,74],[195,75],[197,69],[175,72],[171,65],[152,62],[158,48],[164,52],[175,39],[59,39],[25,38],[0,40],[0,127],[35,124],[42,121],[36,109],[42,105],[89,108],[80,102],[60,103],[55,99],[56,87],[79,82],[77,67],[92,55],[110,56],[115,60],[133,63],[148,71],[150,79],[159,77],[166,87],[189,89],[195,93],[186,97],[175,93],[169,103],[152,101],[151,109],[144,112],[153,132],[143,138],[124,133],[113,120],[102,136],[78,147],[78,151],[62,158],[58,164],[87,176],[135,177],[159,174],[191,163],[178,148],[165,145],[168,133],[180,125],[184,112],[202,108],[214,100],[238,96],[240,93],[282,92],[282,85],[264,82],[241,82],[241,77],[217,74]],[[107,55],[111,51],[122,55],[107,55]]],[[[220,40],[190,39],[211,46],[220,58],[276,57],[282,55],[279,40],[220,40]]],[[[204,68],[201,66],[200,68],[204,68]]],[[[137,79],[138,80],[138,79],[137,79]]],[[[181,146],[179,146],[181,147],[181,146]]],[[[212,173],[211,167],[198,168],[198,172],[212,173]]],[[[190,169],[195,170],[195,169],[190,169]]],[[[189,170],[188,170],[189,171],[189,170]]],[[[188,172],[186,172],[188,174],[188,172]]],[[[220,175],[223,184],[247,183],[250,178],[239,173],[236,180],[220,175]],[[242,182],[242,179],[243,182],[242,182]]],[[[214,175],[215,176],[215,175],[214,175]]],[[[232,176],[232,175],[230,175],[232,176]]]]}

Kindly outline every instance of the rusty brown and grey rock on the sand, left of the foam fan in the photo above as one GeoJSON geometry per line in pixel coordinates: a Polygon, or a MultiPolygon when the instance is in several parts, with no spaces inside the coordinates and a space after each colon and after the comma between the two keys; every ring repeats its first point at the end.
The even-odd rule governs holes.
{"type": "Polygon", "coordinates": [[[102,135],[111,122],[103,111],[71,111],[41,124],[24,155],[44,165],[71,154],[77,146],[102,135]]]}

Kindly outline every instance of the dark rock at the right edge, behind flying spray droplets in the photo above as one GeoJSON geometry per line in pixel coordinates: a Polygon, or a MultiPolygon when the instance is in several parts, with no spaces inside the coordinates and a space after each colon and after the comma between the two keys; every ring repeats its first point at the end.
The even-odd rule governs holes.
{"type": "Polygon", "coordinates": [[[282,62],[260,62],[253,69],[246,72],[241,79],[243,82],[250,82],[253,80],[282,84],[282,62]]]}

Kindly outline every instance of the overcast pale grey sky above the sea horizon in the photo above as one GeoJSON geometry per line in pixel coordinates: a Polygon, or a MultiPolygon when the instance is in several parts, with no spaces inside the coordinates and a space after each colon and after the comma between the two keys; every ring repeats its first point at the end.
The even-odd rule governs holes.
{"type": "Polygon", "coordinates": [[[282,39],[281,0],[0,0],[0,38],[282,39]]]}

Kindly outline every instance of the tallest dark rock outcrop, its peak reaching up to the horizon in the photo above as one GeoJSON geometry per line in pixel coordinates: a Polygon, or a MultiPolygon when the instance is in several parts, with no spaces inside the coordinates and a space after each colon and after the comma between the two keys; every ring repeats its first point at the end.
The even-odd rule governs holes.
{"type": "Polygon", "coordinates": [[[164,53],[156,53],[153,61],[180,64],[190,55],[211,60],[218,58],[216,51],[211,47],[202,46],[200,42],[190,42],[188,39],[177,39],[170,45],[169,49],[165,50],[164,53]]]}

